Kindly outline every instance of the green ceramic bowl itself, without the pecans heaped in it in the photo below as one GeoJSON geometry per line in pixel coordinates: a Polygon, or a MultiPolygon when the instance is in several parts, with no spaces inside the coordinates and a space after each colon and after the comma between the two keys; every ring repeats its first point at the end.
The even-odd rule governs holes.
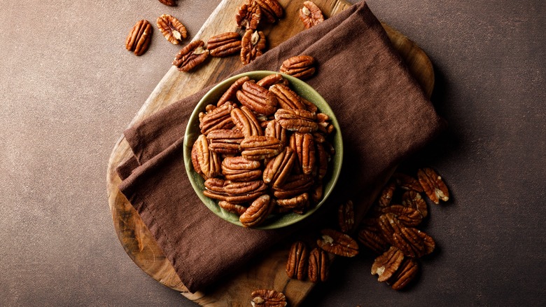
{"type": "MultiPolygon", "coordinates": [[[[228,90],[228,88],[234,83],[237,79],[248,76],[251,79],[258,81],[262,79],[265,76],[268,76],[269,74],[278,74],[276,71],[250,71],[246,72],[244,74],[238,74],[237,76],[232,76],[229,79],[226,79],[225,81],[222,81],[221,83],[218,83],[218,85],[214,86],[214,88],[211,88],[207,94],[205,94],[200,102],[197,103],[197,106],[193,110],[193,113],[190,116],[190,120],[188,121],[188,127],[186,127],[186,135],[184,137],[184,163],[186,163],[186,172],[188,174],[188,177],[190,179],[190,182],[193,186],[193,189],[195,190],[195,193],[197,193],[197,196],[201,198],[204,205],[206,205],[209,210],[214,212],[214,214],[218,215],[218,217],[221,217],[222,219],[225,219],[225,221],[229,221],[230,223],[237,224],[239,226],[242,226],[239,222],[239,217],[237,214],[233,214],[231,212],[223,210],[220,206],[218,206],[218,203],[216,200],[208,198],[207,196],[203,195],[203,191],[205,189],[204,187],[204,179],[195,172],[193,169],[192,161],[191,161],[191,151],[192,146],[197,137],[201,134],[200,128],[199,128],[199,113],[204,111],[205,107],[207,107],[207,104],[216,104],[218,99],[221,97],[221,95],[228,90]]],[[[288,79],[290,82],[290,88],[292,88],[298,95],[304,97],[305,99],[309,100],[310,102],[314,102],[316,106],[318,107],[318,110],[324,114],[328,114],[330,116],[330,121],[335,127],[335,132],[333,133],[333,140],[332,145],[335,148],[335,155],[332,158],[332,161],[330,161],[330,165],[328,165],[328,175],[324,177],[324,191],[323,191],[323,199],[320,203],[318,203],[315,207],[312,207],[310,210],[307,210],[305,214],[296,214],[296,213],[285,213],[285,214],[270,214],[270,216],[266,219],[266,221],[261,224],[258,227],[258,229],[273,229],[273,228],[281,228],[285,227],[291,224],[296,223],[297,221],[301,221],[302,219],[305,219],[306,217],[309,217],[309,215],[313,214],[318,207],[321,207],[323,203],[325,203],[328,196],[330,196],[330,193],[334,189],[335,184],[337,183],[337,179],[339,177],[339,172],[342,168],[342,161],[343,161],[343,141],[342,141],[342,135],[341,131],[339,130],[339,123],[337,123],[337,118],[335,118],[335,114],[332,112],[332,109],[330,109],[330,106],[328,106],[328,103],[325,102],[323,97],[316,93],[316,90],[311,88],[307,83],[304,81],[301,81],[300,79],[296,79],[292,76],[284,75],[283,77],[285,79],[288,79]]]]}

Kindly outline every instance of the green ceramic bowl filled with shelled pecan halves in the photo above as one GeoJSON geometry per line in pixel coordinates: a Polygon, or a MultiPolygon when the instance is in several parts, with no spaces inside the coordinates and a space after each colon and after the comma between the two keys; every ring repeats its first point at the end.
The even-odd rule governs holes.
{"type": "Polygon", "coordinates": [[[281,228],[321,207],[342,168],[332,109],[300,79],[250,71],[211,88],[186,127],[186,172],[218,217],[281,228]]]}

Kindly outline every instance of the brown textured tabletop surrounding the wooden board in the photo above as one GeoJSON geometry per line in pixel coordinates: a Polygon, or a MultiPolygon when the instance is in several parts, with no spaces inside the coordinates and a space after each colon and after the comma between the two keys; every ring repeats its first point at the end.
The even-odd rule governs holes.
{"type": "MultiPolygon", "coordinates": [[[[0,306],[193,306],[125,254],[106,163],[179,50],[154,31],[134,57],[130,27],[172,13],[193,36],[219,1],[29,2],[0,0],[0,306]]],[[[452,200],[430,208],[437,250],[407,291],[374,280],[363,254],[304,305],[544,305],[546,5],[368,4],[435,64],[450,126],[405,167],[439,170],[452,200]]]]}

